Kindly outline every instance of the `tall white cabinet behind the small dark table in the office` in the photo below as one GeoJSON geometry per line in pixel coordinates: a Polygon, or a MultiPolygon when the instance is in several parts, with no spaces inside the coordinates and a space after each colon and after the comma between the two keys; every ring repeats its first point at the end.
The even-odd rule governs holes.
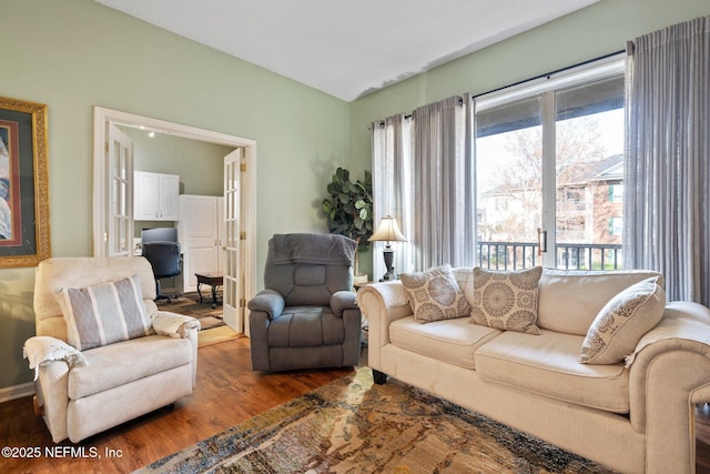
{"type": "Polygon", "coordinates": [[[178,239],[183,253],[183,291],[195,291],[195,273],[224,269],[224,198],[182,194],[178,239]]]}

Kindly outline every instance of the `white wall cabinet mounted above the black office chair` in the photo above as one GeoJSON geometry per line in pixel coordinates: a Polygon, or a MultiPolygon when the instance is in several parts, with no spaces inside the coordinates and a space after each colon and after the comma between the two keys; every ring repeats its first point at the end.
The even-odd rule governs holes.
{"type": "Polygon", "coordinates": [[[135,171],[133,219],[136,221],[176,221],[180,177],[135,171]]]}

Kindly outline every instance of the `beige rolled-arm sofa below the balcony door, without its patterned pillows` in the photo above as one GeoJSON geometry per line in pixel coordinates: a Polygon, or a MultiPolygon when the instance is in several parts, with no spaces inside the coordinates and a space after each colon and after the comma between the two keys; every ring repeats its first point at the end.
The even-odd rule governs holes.
{"type": "MultiPolygon", "coordinates": [[[[471,269],[454,269],[468,294],[471,269]]],[[[545,270],[540,335],[458,317],[420,324],[400,281],[358,292],[368,319],[368,364],[625,473],[694,472],[694,404],[710,401],[710,311],[671,302],[626,363],[580,363],[602,306],[653,272],[545,270]]],[[[660,280],[662,282],[662,279],[660,280]]]]}

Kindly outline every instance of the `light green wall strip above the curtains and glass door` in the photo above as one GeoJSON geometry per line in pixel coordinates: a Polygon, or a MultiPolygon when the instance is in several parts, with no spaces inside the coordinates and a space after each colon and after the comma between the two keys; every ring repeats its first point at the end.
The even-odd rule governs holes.
{"type": "Polygon", "coordinates": [[[575,13],[366,95],[349,108],[352,168],[369,167],[367,125],[450,95],[488,92],[601,56],[710,14],[710,0],[601,0],[575,13]]]}

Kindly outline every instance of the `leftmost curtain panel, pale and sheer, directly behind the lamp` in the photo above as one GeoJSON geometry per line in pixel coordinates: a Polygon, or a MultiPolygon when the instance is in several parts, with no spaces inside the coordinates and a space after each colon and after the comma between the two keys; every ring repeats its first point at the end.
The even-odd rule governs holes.
{"type": "MultiPolygon", "coordinates": [[[[410,161],[410,118],[396,114],[371,124],[373,204],[375,230],[385,215],[397,220],[402,233],[409,240],[412,229],[412,161],[410,161]]],[[[384,242],[373,242],[373,279],[377,281],[386,271],[383,249],[384,242]]],[[[409,242],[395,242],[395,273],[412,272],[412,246],[409,242]]]]}

